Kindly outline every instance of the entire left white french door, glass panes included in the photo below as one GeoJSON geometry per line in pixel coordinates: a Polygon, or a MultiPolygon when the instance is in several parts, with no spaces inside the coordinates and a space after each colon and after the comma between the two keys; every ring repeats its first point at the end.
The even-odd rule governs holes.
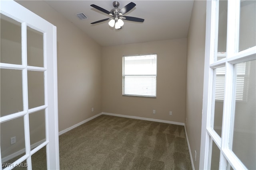
{"type": "Polygon", "coordinates": [[[0,20],[0,170],[59,169],[56,27],[12,0],[0,20]]]}

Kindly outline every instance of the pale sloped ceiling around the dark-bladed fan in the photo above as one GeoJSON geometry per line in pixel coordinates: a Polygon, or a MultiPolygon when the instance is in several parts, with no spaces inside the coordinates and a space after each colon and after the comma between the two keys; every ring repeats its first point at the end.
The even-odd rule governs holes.
{"type": "Polygon", "coordinates": [[[141,43],[165,39],[186,38],[192,12],[192,0],[119,0],[119,9],[130,2],[136,6],[124,16],[143,18],[143,23],[124,20],[122,29],[116,30],[108,21],[90,24],[110,18],[90,5],[95,4],[108,11],[113,0],[50,0],[45,1],[54,10],[82,29],[89,37],[102,46],[141,43]],[[76,14],[84,13],[88,19],[80,20],[76,14]]]}

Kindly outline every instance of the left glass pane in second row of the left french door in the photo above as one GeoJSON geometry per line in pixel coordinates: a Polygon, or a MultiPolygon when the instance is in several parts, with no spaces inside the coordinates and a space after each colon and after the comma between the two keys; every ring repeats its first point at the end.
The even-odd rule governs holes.
{"type": "Polygon", "coordinates": [[[22,70],[0,70],[0,115],[23,111],[22,70]]]}

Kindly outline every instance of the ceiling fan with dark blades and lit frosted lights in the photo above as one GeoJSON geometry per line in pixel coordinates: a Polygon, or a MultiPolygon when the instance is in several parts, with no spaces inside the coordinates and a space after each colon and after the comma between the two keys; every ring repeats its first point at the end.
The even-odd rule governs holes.
{"type": "Polygon", "coordinates": [[[124,8],[122,8],[120,10],[120,9],[118,9],[119,2],[114,1],[113,2],[114,9],[112,9],[111,11],[105,10],[105,9],[103,9],[103,8],[97,6],[97,5],[94,5],[94,4],[92,4],[91,6],[93,8],[96,8],[97,10],[100,10],[101,12],[104,12],[104,13],[111,16],[111,18],[106,18],[104,20],[95,21],[95,22],[92,22],[91,24],[95,24],[95,23],[110,20],[108,22],[108,25],[110,25],[111,27],[115,26],[116,29],[121,29],[122,26],[124,25],[123,20],[135,21],[135,22],[143,22],[144,21],[144,19],[142,19],[142,18],[124,16],[124,14],[126,14],[127,12],[132,10],[132,8],[134,8],[134,6],[136,6],[136,4],[134,4],[133,2],[130,2],[129,4],[127,4],[126,6],[124,6],[124,8]]]}

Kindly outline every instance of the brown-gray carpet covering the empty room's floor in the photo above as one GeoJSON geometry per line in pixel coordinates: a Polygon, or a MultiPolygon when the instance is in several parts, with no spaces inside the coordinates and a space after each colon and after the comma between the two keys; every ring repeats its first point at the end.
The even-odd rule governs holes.
{"type": "MultiPolygon", "coordinates": [[[[62,170],[192,169],[181,125],[100,115],[60,135],[59,142],[62,170]]],[[[45,169],[45,150],[36,154],[33,167],[45,169]]]]}

